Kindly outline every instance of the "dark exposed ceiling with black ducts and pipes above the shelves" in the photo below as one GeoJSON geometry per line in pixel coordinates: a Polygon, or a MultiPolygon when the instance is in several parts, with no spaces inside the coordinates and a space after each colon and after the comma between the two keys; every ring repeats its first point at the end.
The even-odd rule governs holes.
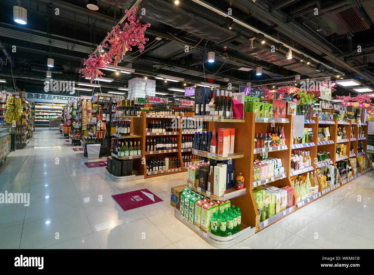
{"type": "MultiPolygon", "coordinates": [[[[79,70],[83,58],[96,49],[135,0],[98,1],[98,11],[89,10],[87,2],[0,0],[0,58],[12,61],[0,61],[0,78],[7,80],[3,89],[14,89],[14,78],[17,88],[42,92],[47,58],[55,59],[55,67],[51,69],[54,79],[82,81],[79,70]],[[15,5],[27,9],[26,25],[13,21],[15,5]]],[[[140,2],[139,13],[145,12],[141,21],[151,24],[145,33],[149,38],[145,51],[139,53],[134,49],[120,64],[135,69],[134,74],[104,71],[105,77],[116,81],[103,84],[102,92],[127,86],[134,77],[157,74],[182,77],[185,81],[156,80],[156,92],[170,92],[169,87],[184,88],[207,82],[208,78],[222,87],[227,87],[228,82],[236,87],[247,82],[252,86],[281,86],[294,83],[295,75],[301,75],[301,79],[335,80],[340,75],[338,72],[343,72],[344,78],[356,78],[363,86],[374,87],[374,0],[179,2],[178,5],[174,0],[140,2]],[[226,16],[228,13],[230,16],[226,16]],[[232,18],[241,23],[233,22],[232,18]],[[255,30],[265,34],[264,43],[255,30]],[[253,47],[249,39],[252,37],[256,37],[253,47]],[[192,47],[188,53],[184,52],[186,44],[192,47]],[[283,45],[295,49],[292,59],[286,59],[288,47],[283,45]],[[358,46],[361,52],[357,52],[358,46]],[[215,52],[214,63],[206,62],[210,51],[215,52]],[[309,65],[307,56],[300,53],[312,59],[309,65]],[[336,71],[317,72],[319,63],[336,71]],[[263,68],[260,76],[255,72],[257,66],[263,68]],[[249,71],[239,70],[241,67],[249,71]]],[[[337,94],[348,92],[356,93],[338,88],[337,94]]]]}

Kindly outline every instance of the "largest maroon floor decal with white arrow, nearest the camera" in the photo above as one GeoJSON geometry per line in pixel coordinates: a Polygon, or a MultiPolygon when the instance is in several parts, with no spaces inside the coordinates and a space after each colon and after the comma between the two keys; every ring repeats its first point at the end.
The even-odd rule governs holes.
{"type": "Polygon", "coordinates": [[[162,201],[148,189],[113,195],[112,197],[124,211],[162,201]]]}

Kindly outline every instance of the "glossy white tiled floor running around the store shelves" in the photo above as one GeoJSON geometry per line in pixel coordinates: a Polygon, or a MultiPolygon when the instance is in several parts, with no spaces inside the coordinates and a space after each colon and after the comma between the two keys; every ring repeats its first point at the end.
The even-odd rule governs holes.
{"type": "MultiPolygon", "coordinates": [[[[30,193],[28,207],[0,204],[0,248],[214,248],[174,217],[170,188],[186,173],[115,183],[65,140],[37,128],[0,167],[0,193],[30,193]],[[163,201],[123,211],[111,197],[144,188],[163,201]]],[[[373,230],[374,171],[232,248],[374,248],[373,230]]]]}

